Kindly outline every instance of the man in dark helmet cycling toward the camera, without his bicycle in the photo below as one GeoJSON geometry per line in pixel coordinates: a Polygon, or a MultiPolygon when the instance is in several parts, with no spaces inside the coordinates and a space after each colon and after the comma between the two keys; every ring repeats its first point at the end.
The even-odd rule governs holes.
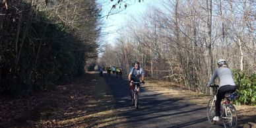
{"type": "MultiPolygon", "coordinates": [[[[134,63],[134,67],[131,68],[131,71],[128,75],[128,79],[129,79],[129,88],[130,88],[130,94],[132,92],[132,90],[135,88],[133,82],[140,82],[140,78],[142,80],[142,83],[144,84],[144,71],[143,69],[140,67],[140,63],[138,61],[136,61],[134,63]]],[[[138,92],[140,92],[141,88],[138,88],[138,92]]]]}

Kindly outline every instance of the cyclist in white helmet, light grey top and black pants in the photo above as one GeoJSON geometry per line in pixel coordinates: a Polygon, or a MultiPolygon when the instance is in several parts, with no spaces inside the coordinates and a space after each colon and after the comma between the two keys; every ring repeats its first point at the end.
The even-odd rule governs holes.
{"type": "Polygon", "coordinates": [[[212,120],[220,121],[220,102],[224,99],[226,92],[235,92],[236,84],[233,79],[232,71],[228,68],[228,63],[226,60],[219,59],[218,69],[214,71],[214,74],[210,78],[207,86],[210,86],[212,82],[218,77],[220,80],[220,88],[218,88],[217,99],[215,103],[215,116],[212,120]]]}

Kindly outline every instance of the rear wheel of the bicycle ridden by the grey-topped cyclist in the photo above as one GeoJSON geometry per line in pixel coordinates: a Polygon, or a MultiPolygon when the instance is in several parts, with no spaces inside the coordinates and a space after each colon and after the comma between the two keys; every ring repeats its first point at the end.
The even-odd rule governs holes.
{"type": "Polygon", "coordinates": [[[226,106],[226,117],[224,118],[224,127],[236,127],[238,125],[238,113],[235,106],[229,104],[226,106]]]}

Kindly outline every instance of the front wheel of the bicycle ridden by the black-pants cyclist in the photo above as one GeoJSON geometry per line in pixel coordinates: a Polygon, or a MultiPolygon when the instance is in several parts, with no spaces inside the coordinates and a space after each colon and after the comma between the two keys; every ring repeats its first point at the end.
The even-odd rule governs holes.
{"type": "Polygon", "coordinates": [[[214,98],[210,99],[207,104],[207,117],[208,121],[212,124],[216,123],[216,121],[212,120],[215,115],[215,100],[214,98]]]}

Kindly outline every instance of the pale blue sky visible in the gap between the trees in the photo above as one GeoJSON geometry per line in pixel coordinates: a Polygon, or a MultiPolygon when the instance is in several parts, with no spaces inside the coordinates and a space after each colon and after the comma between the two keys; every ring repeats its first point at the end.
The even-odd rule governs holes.
{"type": "Polygon", "coordinates": [[[112,5],[117,3],[117,0],[98,0],[98,3],[101,5],[102,10],[102,30],[103,35],[100,44],[115,44],[115,38],[117,38],[119,31],[121,31],[125,26],[127,19],[133,16],[140,16],[146,13],[147,7],[152,4],[159,3],[159,0],[122,0],[121,8],[119,9],[119,5],[115,9],[112,9],[112,5]],[[125,9],[124,5],[127,4],[127,8],[125,9]],[[118,13],[114,15],[108,15],[108,13],[118,13]],[[108,18],[107,18],[108,16],[108,18]],[[108,34],[106,34],[108,33],[108,34]]]}

